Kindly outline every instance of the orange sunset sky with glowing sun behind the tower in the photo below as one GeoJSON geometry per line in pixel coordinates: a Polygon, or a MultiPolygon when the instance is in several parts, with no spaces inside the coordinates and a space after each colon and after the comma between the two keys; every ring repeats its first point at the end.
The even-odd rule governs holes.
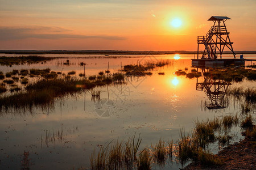
{"type": "Polygon", "coordinates": [[[210,16],[228,16],[234,50],[256,50],[255,9],[255,0],[0,0],[0,49],[195,51],[210,16]]]}

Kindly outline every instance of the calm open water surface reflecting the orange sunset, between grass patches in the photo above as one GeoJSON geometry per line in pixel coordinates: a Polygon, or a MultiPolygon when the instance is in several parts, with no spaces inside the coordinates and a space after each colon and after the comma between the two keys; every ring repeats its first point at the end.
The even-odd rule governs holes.
{"type": "MultiPolygon", "coordinates": [[[[90,92],[86,92],[57,100],[55,107],[49,110],[34,108],[32,113],[1,113],[0,169],[21,168],[23,152],[28,151],[31,169],[89,169],[89,156],[94,148],[113,139],[127,139],[140,133],[141,148],[155,144],[160,138],[177,141],[180,128],[192,130],[194,120],[241,112],[239,101],[234,99],[230,99],[224,109],[207,109],[204,105],[209,103],[207,95],[204,91],[196,91],[196,82],[203,82],[203,77],[188,79],[174,75],[177,69],[192,69],[193,55],[54,56],[60,58],[43,64],[0,66],[0,71],[50,68],[63,73],[75,70],[78,75],[84,73],[84,66],[79,65],[84,62],[85,74],[92,75],[107,70],[108,62],[111,73],[127,64],[161,59],[171,59],[171,64],[152,71],[152,76],[133,78],[118,86],[97,88],[101,90],[100,101],[92,100],[90,92]],[[71,62],[69,66],[63,64],[67,59],[71,62]],[[158,75],[159,72],[165,75],[158,75]]],[[[256,58],[255,55],[244,57],[256,58]]],[[[244,81],[231,86],[255,88],[256,84],[244,81]]],[[[236,134],[234,141],[241,138],[239,132],[240,128],[233,129],[236,134]]],[[[213,145],[212,151],[217,152],[217,146],[213,145]]],[[[180,167],[173,163],[163,169],[180,167]]]]}

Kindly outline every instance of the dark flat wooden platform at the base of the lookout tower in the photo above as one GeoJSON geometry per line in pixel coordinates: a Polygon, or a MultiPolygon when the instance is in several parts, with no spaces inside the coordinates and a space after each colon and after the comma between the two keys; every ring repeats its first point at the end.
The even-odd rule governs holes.
{"type": "Polygon", "coordinates": [[[192,59],[192,67],[228,67],[230,65],[245,66],[245,61],[254,59],[192,59]]]}

